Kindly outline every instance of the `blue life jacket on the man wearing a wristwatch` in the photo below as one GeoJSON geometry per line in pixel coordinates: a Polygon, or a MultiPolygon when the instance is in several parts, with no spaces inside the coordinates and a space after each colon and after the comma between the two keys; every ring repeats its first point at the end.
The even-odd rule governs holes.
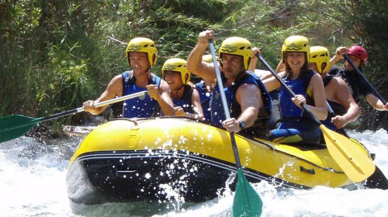
{"type": "MultiPolygon", "coordinates": [[[[223,83],[225,83],[227,79],[223,73],[221,73],[221,78],[223,83]]],[[[230,117],[237,119],[241,115],[241,105],[237,102],[236,92],[237,89],[244,83],[254,84],[256,87],[258,87],[261,92],[261,97],[264,104],[264,107],[260,109],[258,113],[255,123],[249,128],[265,128],[265,123],[267,122],[271,113],[272,100],[263,82],[257,75],[255,75],[255,73],[251,71],[244,71],[242,75],[236,78],[235,82],[231,86],[224,88],[227,105],[230,111],[230,117]]],[[[217,126],[222,126],[221,123],[223,120],[225,120],[225,112],[223,110],[222,99],[220,97],[218,85],[213,90],[213,94],[211,95],[210,108],[212,123],[217,126]]]]}

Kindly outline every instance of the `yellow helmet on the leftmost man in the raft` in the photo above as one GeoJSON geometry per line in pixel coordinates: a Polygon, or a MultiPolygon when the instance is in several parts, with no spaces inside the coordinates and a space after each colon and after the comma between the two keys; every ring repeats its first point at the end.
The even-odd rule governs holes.
{"type": "Polygon", "coordinates": [[[129,61],[129,52],[144,52],[148,56],[148,61],[151,66],[154,66],[156,60],[158,59],[158,51],[156,50],[155,42],[149,38],[133,38],[128,43],[128,46],[125,50],[126,59],[128,64],[131,65],[129,61]]]}

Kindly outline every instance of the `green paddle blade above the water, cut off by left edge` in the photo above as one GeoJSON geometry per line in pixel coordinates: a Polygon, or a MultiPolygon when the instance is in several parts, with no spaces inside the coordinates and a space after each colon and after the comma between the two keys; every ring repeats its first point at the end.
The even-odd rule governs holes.
{"type": "Polygon", "coordinates": [[[40,122],[40,118],[10,115],[0,118],[0,143],[16,139],[40,122]]]}

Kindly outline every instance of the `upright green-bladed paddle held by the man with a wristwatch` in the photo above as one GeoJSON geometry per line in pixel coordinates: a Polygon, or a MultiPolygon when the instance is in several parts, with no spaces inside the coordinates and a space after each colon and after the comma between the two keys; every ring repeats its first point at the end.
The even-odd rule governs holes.
{"type": "MultiPolygon", "coordinates": [[[[220,69],[218,69],[217,57],[214,50],[214,44],[209,39],[210,51],[213,57],[213,64],[217,76],[218,89],[220,89],[222,106],[225,111],[225,118],[229,119],[229,109],[226,104],[225,92],[223,91],[223,85],[221,80],[220,69]]],[[[236,160],[237,167],[237,186],[236,193],[234,194],[233,199],[233,216],[260,216],[262,214],[263,202],[260,199],[258,193],[253,189],[251,184],[244,176],[242,171],[241,161],[236,145],[236,139],[234,138],[234,132],[230,132],[230,142],[232,142],[232,149],[234,154],[234,159],[236,160]]]]}

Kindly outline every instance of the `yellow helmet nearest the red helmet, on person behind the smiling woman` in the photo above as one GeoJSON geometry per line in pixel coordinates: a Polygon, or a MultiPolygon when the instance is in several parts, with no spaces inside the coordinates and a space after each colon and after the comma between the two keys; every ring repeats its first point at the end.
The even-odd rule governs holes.
{"type": "Polygon", "coordinates": [[[330,64],[329,50],[326,47],[313,46],[310,48],[310,56],[310,62],[317,64],[317,73],[325,73],[330,64]]]}

